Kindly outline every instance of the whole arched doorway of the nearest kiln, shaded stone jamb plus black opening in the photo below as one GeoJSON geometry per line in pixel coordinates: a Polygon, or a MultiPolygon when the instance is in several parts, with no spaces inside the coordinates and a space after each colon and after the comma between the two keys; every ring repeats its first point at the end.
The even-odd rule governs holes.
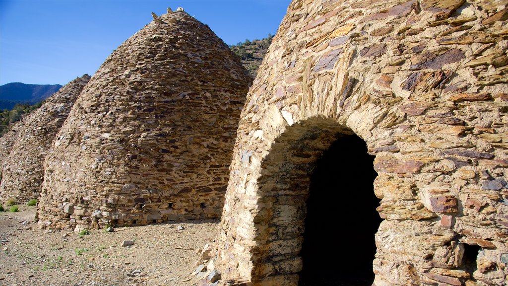
{"type": "Polygon", "coordinates": [[[253,275],[284,276],[285,282],[295,285],[300,272],[304,280],[300,285],[372,284],[374,233],[380,222],[375,211],[379,199],[373,192],[376,173],[372,157],[363,139],[333,120],[311,118],[288,127],[261,162],[257,205],[262,211],[253,218],[257,230],[256,246],[251,250],[253,275]],[[351,161],[355,157],[358,160],[351,161]],[[338,160],[336,164],[334,160],[338,160]],[[333,180],[335,186],[326,186],[333,180]],[[358,180],[362,181],[355,183],[358,180]],[[357,189],[351,189],[355,185],[357,189]],[[364,230],[356,227],[359,225],[364,230]],[[336,236],[340,233],[343,237],[336,236]],[[320,237],[326,235],[335,238],[320,237]],[[357,251],[355,256],[345,251],[357,248],[351,245],[355,240],[364,244],[362,250],[368,250],[357,251]],[[327,265],[330,255],[341,252],[342,262],[337,262],[341,270],[337,271],[336,265],[335,272],[327,274],[333,269],[327,265]],[[319,269],[323,272],[316,273],[319,269]],[[364,279],[356,279],[363,271],[367,271],[362,273],[364,279]]]}

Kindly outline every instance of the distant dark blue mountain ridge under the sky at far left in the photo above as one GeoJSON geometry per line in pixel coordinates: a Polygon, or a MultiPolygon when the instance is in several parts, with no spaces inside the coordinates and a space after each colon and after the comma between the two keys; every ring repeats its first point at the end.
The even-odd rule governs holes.
{"type": "Polygon", "coordinates": [[[60,84],[26,84],[11,82],[0,85],[0,110],[12,109],[14,105],[36,104],[57,92],[60,84]]]}

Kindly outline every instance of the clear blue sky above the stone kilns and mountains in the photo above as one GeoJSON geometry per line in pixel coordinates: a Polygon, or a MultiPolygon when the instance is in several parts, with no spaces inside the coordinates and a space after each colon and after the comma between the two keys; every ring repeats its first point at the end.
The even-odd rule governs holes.
{"type": "Polygon", "coordinates": [[[226,44],[275,34],[291,0],[0,0],[0,85],[92,75],[152,21],[183,7],[226,44]]]}

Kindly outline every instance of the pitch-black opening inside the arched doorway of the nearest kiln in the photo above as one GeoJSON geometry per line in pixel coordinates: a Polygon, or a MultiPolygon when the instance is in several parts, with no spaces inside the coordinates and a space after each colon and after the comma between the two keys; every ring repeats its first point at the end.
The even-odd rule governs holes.
{"type": "Polygon", "coordinates": [[[339,137],[311,176],[299,285],[370,286],[376,252],[374,156],[356,135],[339,137]]]}

